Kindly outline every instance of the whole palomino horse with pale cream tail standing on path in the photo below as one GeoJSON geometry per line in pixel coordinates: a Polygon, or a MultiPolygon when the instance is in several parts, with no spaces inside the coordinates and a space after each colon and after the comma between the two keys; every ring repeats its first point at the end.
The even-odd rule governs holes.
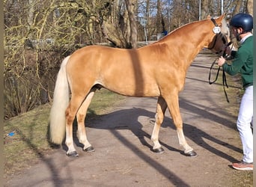
{"type": "Polygon", "coordinates": [[[56,80],[50,114],[51,141],[61,144],[66,132],[67,156],[78,156],[73,146],[76,117],[83,150],[94,151],[85,134],[85,116],[94,92],[97,88],[106,88],[124,96],[158,97],[151,135],[153,151],[163,151],[159,129],[168,107],[184,153],[196,156],[183,134],[178,94],[198,52],[204,47],[220,52],[228,43],[224,16],[183,25],[156,43],[139,49],[86,46],[65,58],[56,80]]]}

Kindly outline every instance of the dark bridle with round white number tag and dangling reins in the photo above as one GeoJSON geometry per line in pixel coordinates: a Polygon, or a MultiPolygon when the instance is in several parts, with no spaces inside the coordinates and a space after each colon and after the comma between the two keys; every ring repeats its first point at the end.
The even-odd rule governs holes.
{"type": "MultiPolygon", "coordinates": [[[[210,48],[208,48],[208,49],[213,49],[214,46],[216,46],[217,38],[218,38],[219,36],[221,36],[221,37],[222,37],[222,41],[223,41],[223,43],[224,43],[224,45],[225,45],[225,49],[224,49],[224,52],[223,52],[222,56],[225,58],[225,57],[226,57],[225,51],[226,51],[227,47],[231,45],[232,42],[229,42],[228,44],[226,44],[228,41],[225,40],[224,35],[222,34],[222,32],[220,32],[220,30],[219,30],[219,29],[220,29],[220,28],[219,28],[219,25],[216,23],[215,19],[211,18],[210,20],[211,20],[211,21],[213,22],[213,24],[216,26],[216,27],[215,27],[215,28],[216,28],[216,31],[219,31],[219,32],[215,32],[215,28],[213,28],[213,32],[216,33],[216,36],[215,36],[215,40],[214,40],[213,46],[210,47],[210,48]],[[218,30],[217,30],[217,29],[218,29],[218,30]]],[[[219,54],[220,52],[222,52],[222,49],[218,52],[218,54],[219,54]]],[[[216,80],[218,79],[218,76],[219,76],[219,70],[220,70],[221,67],[218,68],[218,71],[217,71],[217,74],[216,74],[216,79],[215,79],[213,82],[210,81],[211,70],[213,69],[213,65],[216,64],[216,61],[217,61],[218,59],[219,59],[219,57],[216,58],[215,61],[213,61],[213,64],[212,64],[211,67],[210,67],[210,73],[209,73],[209,78],[208,78],[210,85],[212,85],[214,82],[216,82],[216,80]]],[[[227,92],[226,92],[226,90],[225,90],[225,87],[228,88],[228,83],[227,83],[225,71],[223,70],[223,68],[222,68],[222,86],[223,86],[223,91],[224,91],[224,93],[225,93],[226,100],[227,100],[227,102],[229,102],[228,94],[227,94],[227,92]]]]}

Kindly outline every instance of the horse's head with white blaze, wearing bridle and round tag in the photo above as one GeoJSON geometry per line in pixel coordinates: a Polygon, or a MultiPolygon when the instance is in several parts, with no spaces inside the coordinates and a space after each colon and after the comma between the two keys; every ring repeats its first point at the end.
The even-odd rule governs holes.
{"type": "Polygon", "coordinates": [[[230,30],[225,19],[225,14],[219,16],[217,19],[210,19],[213,28],[213,37],[207,46],[212,52],[218,55],[223,55],[225,47],[230,42],[230,30]]]}

